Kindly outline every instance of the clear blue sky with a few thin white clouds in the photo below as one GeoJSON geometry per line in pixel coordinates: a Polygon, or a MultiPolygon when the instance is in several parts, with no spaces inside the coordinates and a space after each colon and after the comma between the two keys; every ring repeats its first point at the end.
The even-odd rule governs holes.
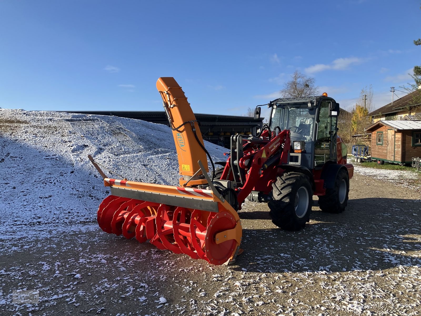
{"type": "Polygon", "coordinates": [[[297,69],[345,108],[372,84],[377,108],[421,64],[420,22],[419,0],[3,0],[0,107],[162,110],[169,76],[195,112],[242,115],[297,69]]]}

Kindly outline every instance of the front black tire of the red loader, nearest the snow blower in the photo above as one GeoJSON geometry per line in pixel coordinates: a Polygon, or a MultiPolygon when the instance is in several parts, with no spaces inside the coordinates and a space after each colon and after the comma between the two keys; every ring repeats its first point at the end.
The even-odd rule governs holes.
{"type": "Polygon", "coordinates": [[[299,230],[310,221],[313,190],[310,179],[299,172],[285,172],[272,184],[269,201],[272,222],[285,230],[299,230]],[[299,198],[302,196],[303,198],[299,198]]]}

